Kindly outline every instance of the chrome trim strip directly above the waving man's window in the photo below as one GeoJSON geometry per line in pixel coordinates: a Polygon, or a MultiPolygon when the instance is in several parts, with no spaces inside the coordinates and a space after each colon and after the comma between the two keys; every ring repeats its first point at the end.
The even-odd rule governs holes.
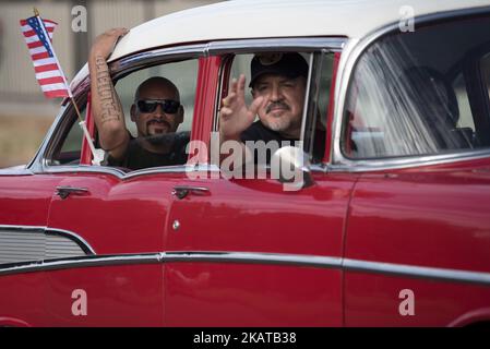
{"type": "Polygon", "coordinates": [[[270,39],[239,39],[213,41],[207,46],[210,55],[254,53],[280,50],[312,52],[322,48],[340,50],[347,39],[343,37],[299,37],[270,39]]]}

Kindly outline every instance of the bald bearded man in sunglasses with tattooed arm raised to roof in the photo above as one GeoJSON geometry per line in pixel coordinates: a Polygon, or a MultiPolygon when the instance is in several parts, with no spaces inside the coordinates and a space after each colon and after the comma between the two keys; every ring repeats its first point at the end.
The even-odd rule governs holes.
{"type": "Polygon", "coordinates": [[[189,134],[176,133],[183,121],[183,107],[178,88],[169,80],[151,77],[138,87],[131,106],[138,137],[127,130],[106,61],[127,33],[126,28],[113,28],[99,35],[88,58],[92,111],[100,146],[109,154],[107,164],[131,170],[186,164],[189,134]]]}

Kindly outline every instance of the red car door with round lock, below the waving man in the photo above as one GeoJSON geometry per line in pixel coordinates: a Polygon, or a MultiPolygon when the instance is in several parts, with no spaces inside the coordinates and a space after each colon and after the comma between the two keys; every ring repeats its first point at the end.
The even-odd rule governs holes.
{"type": "MultiPolygon", "coordinates": [[[[213,108],[206,117],[214,116],[213,108]]],[[[213,166],[190,174],[177,188],[167,226],[167,325],[343,324],[343,229],[356,174],[316,165],[314,184],[299,191],[285,191],[277,179],[229,178],[213,166]]]]}

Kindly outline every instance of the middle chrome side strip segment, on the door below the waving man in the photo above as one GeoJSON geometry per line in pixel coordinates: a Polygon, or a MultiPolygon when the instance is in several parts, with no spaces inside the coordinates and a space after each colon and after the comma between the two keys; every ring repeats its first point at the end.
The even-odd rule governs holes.
{"type": "Polygon", "coordinates": [[[165,252],[162,260],[168,262],[223,262],[252,264],[294,264],[324,268],[339,268],[340,257],[254,252],[165,252]]]}

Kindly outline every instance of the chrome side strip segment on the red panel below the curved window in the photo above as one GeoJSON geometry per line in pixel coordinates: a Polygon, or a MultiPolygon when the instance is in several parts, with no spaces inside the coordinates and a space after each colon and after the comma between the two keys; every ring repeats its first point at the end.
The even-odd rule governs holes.
{"type": "Polygon", "coordinates": [[[408,276],[431,280],[438,279],[445,281],[482,284],[490,286],[490,273],[481,272],[468,272],[382,262],[368,262],[349,258],[344,258],[343,268],[348,272],[366,272],[393,276],[408,276]]]}

